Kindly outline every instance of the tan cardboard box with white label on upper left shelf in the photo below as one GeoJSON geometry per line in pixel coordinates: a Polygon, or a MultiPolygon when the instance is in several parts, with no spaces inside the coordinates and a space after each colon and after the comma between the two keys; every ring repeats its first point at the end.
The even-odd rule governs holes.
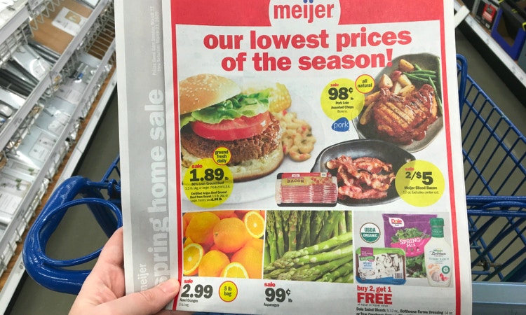
{"type": "Polygon", "coordinates": [[[62,55],[74,38],[75,29],[92,11],[74,0],[60,2],[49,17],[42,15],[43,22],[38,22],[38,29],[33,31],[34,40],[62,55]]]}

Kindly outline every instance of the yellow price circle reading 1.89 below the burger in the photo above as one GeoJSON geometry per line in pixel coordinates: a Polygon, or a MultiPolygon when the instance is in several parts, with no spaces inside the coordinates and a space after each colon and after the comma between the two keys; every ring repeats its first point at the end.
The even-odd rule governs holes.
{"type": "Polygon", "coordinates": [[[234,176],[227,165],[214,159],[201,159],[192,164],[182,179],[184,194],[198,207],[213,208],[225,202],[234,188],[234,176]]]}

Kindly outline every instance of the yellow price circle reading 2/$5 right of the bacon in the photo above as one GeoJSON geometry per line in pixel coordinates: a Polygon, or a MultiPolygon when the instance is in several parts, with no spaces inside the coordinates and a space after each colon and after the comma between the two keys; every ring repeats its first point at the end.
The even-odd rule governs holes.
{"type": "Polygon", "coordinates": [[[424,160],[414,160],[398,169],[395,186],[398,195],[408,204],[427,207],[442,197],[445,181],[436,165],[424,160]]]}

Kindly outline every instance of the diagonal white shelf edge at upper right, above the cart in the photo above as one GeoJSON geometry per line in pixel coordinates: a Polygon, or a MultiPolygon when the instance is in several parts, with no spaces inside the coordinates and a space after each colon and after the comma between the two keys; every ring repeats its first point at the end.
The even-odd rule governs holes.
{"type": "MultiPolygon", "coordinates": [[[[462,8],[465,8],[465,6],[461,3],[459,0],[454,0],[454,10],[459,12],[462,10],[462,8]]],[[[479,43],[483,43],[485,48],[490,52],[490,54],[493,54],[494,56],[488,56],[494,57],[492,59],[494,62],[490,62],[490,64],[497,63],[499,68],[497,73],[503,73],[506,70],[506,74],[502,74],[502,80],[506,82],[508,85],[511,86],[511,90],[518,90],[516,94],[519,96],[522,95],[523,91],[526,91],[526,72],[522,69],[520,69],[520,66],[518,66],[517,62],[513,60],[505,51],[501,48],[501,46],[494,41],[489,31],[487,31],[484,27],[482,27],[475,18],[471,14],[467,14],[464,18],[464,22],[466,23],[467,27],[471,29],[473,34],[476,35],[477,38],[472,38],[473,40],[478,41],[479,43]],[[501,67],[504,67],[504,69],[501,69],[501,67]],[[508,76],[508,74],[510,74],[508,76]]],[[[485,55],[485,52],[481,52],[482,55],[485,55]]],[[[522,97],[523,98],[523,97],[522,97]]],[[[526,104],[525,104],[526,106],[526,104]]]]}

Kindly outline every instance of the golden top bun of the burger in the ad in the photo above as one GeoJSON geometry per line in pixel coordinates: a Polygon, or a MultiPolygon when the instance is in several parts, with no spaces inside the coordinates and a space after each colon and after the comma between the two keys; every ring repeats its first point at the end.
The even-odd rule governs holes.
{"type": "Polygon", "coordinates": [[[241,88],[233,80],[203,73],[185,78],[179,83],[180,114],[223,102],[241,93],[241,88]]]}

